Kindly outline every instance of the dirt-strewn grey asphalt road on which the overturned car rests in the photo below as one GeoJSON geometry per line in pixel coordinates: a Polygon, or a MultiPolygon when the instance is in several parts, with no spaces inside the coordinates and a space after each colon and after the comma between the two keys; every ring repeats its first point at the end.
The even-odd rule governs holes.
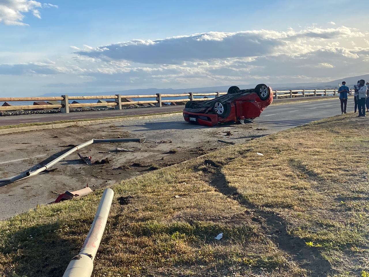
{"type": "MultiPolygon", "coordinates": [[[[349,100],[347,111],[354,107],[349,100]]],[[[218,140],[246,143],[253,138],[300,126],[311,121],[341,114],[338,99],[271,105],[255,119],[255,124],[230,124],[204,127],[184,122],[181,114],[165,115],[151,120],[123,119],[113,124],[47,129],[0,135],[0,178],[17,175],[58,156],[91,138],[139,137],[151,141],[167,140],[159,145],[144,143],[142,150],[116,153],[115,147],[137,147],[135,144],[99,144],[83,148],[81,154],[94,160],[109,158],[109,164],[87,166],[77,152],[51,169],[34,177],[0,187],[0,219],[46,204],[66,190],[86,186],[111,185],[148,171],[151,163],[165,167],[227,146],[218,140]],[[231,131],[232,136],[225,136],[231,131]],[[69,147],[69,148],[68,148],[69,147]],[[113,150],[112,150],[113,149],[113,150]],[[169,150],[175,149],[171,154],[169,150]],[[99,153],[105,151],[104,153],[99,153]],[[110,152],[111,151],[111,152],[110,152]]],[[[345,116],[345,115],[342,115],[345,116]]],[[[363,119],[365,120],[365,119],[363,119]]]]}

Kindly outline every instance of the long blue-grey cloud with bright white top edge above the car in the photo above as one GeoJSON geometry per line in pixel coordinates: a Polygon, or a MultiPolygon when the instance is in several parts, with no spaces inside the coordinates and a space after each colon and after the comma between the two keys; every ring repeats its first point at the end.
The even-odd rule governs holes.
{"type": "MultiPolygon", "coordinates": [[[[315,41],[353,38],[363,35],[348,27],[311,27],[300,31],[252,30],[236,33],[208,32],[158,40],[132,40],[101,47],[83,45],[75,54],[107,60],[128,60],[143,64],[182,64],[185,61],[258,57],[301,53],[317,49],[315,41]],[[296,42],[314,42],[296,43],[296,42]],[[296,51],[291,51],[292,48],[296,51]],[[288,49],[289,48],[289,49],[288,49]],[[283,49],[287,51],[283,52],[283,49]]],[[[77,47],[73,47],[75,49],[77,47]]]]}

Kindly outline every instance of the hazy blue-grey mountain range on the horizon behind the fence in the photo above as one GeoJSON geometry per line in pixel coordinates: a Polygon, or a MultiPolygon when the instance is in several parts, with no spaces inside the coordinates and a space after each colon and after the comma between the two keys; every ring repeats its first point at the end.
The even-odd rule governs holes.
{"type": "MultiPolygon", "coordinates": [[[[342,83],[342,81],[346,81],[346,85],[350,88],[354,86],[358,80],[364,79],[369,81],[369,74],[362,75],[362,76],[354,76],[348,77],[343,79],[338,79],[326,83],[282,83],[282,84],[273,84],[268,83],[273,89],[277,90],[289,90],[289,89],[328,89],[328,88],[337,88],[338,83],[342,83]]],[[[119,91],[109,91],[109,92],[99,92],[94,93],[95,95],[145,95],[145,94],[156,94],[156,93],[166,93],[166,94],[178,94],[184,92],[226,92],[228,88],[231,86],[209,86],[209,87],[202,87],[202,88],[184,88],[184,89],[157,89],[157,88],[149,88],[149,89],[128,89],[128,90],[119,90],[119,91]]],[[[254,88],[256,84],[252,85],[238,85],[240,89],[247,89],[247,88],[254,88]]],[[[57,93],[46,93],[42,96],[57,96],[57,93]]],[[[83,95],[91,95],[91,93],[68,93],[69,96],[83,96],[83,95]]]]}

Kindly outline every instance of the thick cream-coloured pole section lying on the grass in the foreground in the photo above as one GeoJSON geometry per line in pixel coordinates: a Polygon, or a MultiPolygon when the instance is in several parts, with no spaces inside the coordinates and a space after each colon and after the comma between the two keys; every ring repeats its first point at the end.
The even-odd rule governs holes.
{"type": "Polygon", "coordinates": [[[79,254],[69,262],[63,277],[90,277],[93,270],[93,260],[97,249],[99,249],[101,237],[103,236],[106,221],[108,219],[114,192],[111,188],[105,189],[101,197],[99,208],[92,222],[90,232],[79,254]]]}

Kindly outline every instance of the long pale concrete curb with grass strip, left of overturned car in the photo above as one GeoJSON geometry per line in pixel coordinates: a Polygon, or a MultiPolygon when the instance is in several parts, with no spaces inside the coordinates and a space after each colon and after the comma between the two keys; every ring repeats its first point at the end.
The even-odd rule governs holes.
{"type": "Polygon", "coordinates": [[[170,117],[174,115],[182,114],[182,112],[178,113],[167,113],[167,114],[153,114],[147,116],[129,116],[129,117],[117,117],[111,119],[96,119],[96,120],[84,120],[84,121],[75,121],[75,122],[65,122],[65,123],[54,123],[54,124],[45,124],[45,125],[34,125],[34,126],[23,126],[23,127],[13,127],[0,129],[1,134],[10,134],[10,133],[19,133],[25,131],[36,131],[36,130],[45,130],[45,129],[56,129],[56,128],[65,128],[69,126],[87,126],[94,124],[102,124],[102,123],[113,123],[124,120],[135,120],[135,119],[155,119],[162,117],[170,117]]]}

